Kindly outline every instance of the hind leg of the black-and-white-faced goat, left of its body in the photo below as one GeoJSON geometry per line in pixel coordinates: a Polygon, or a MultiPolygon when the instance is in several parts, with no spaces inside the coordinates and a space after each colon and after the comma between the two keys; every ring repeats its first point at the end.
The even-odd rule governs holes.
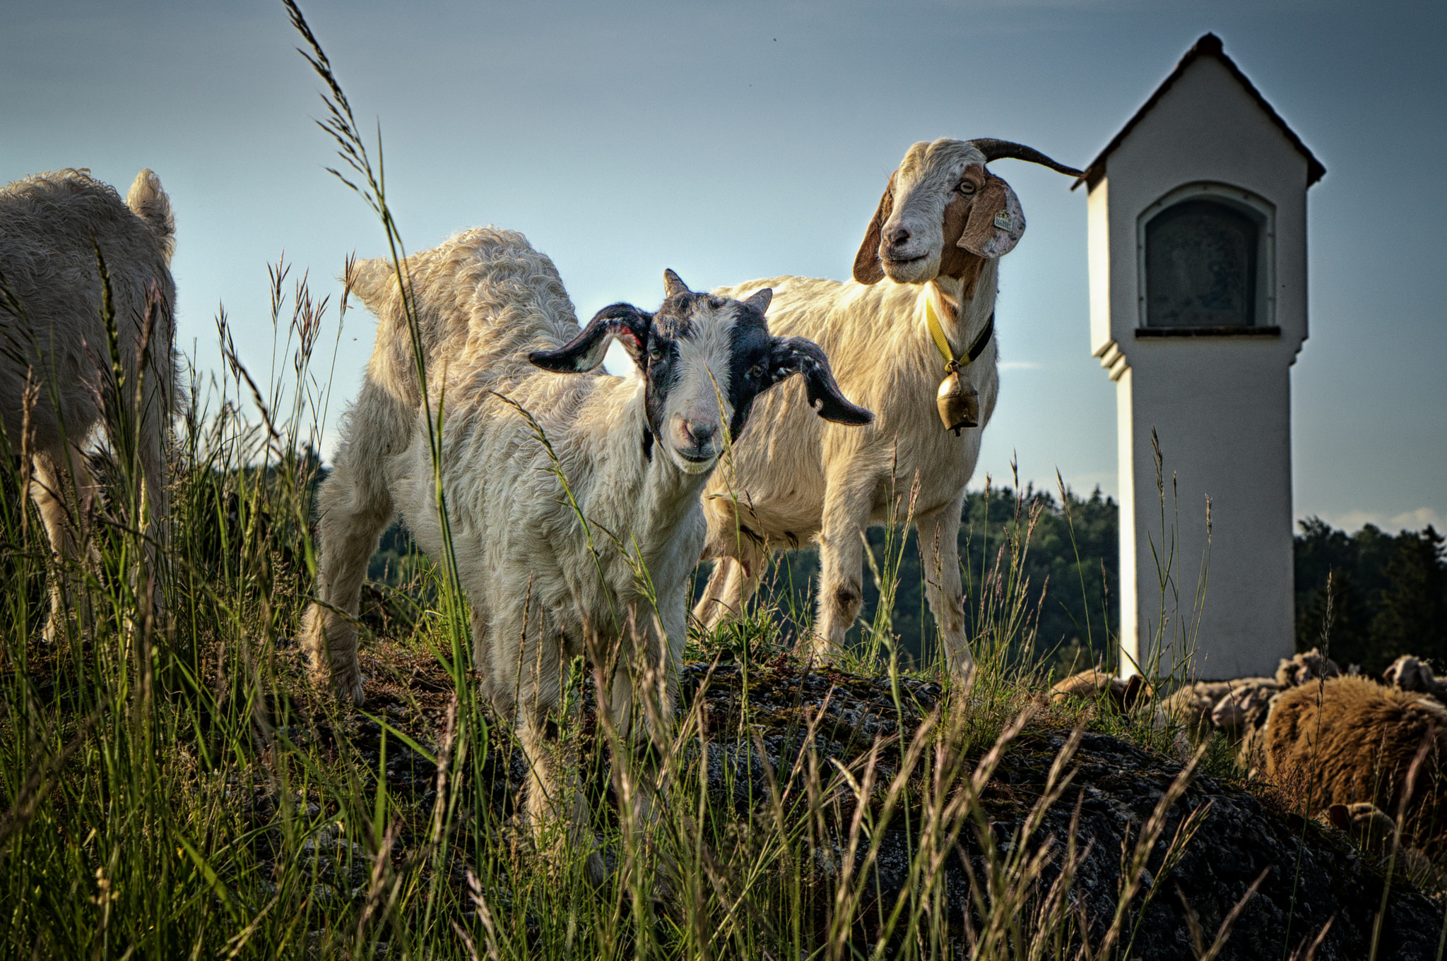
{"type": "Polygon", "coordinates": [[[395,513],[383,458],[399,454],[402,442],[381,416],[392,403],[370,382],[362,387],[336,468],[317,488],[317,600],[302,620],[302,647],[313,682],[353,704],[363,699],[356,629],[362,581],[395,513]]]}

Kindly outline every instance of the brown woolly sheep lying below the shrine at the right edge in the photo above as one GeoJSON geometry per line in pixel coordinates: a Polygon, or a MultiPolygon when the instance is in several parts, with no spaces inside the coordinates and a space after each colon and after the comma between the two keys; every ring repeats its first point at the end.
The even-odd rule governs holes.
{"type": "Polygon", "coordinates": [[[1404,814],[1404,837],[1447,827],[1447,708],[1366,678],[1292,688],[1266,723],[1266,772],[1314,805],[1372,802],[1404,814]]]}

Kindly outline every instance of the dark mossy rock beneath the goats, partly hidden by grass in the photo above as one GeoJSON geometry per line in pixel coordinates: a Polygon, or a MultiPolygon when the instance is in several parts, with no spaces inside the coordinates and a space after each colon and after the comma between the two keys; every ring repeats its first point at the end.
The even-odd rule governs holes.
{"type": "MultiPolygon", "coordinates": [[[[405,649],[375,650],[365,659],[370,660],[363,666],[373,678],[365,710],[423,743],[434,741],[450,699],[450,682],[436,660],[405,649]]],[[[887,676],[812,672],[786,658],[748,669],[738,663],[690,663],[683,669],[683,694],[684,710],[708,736],[708,790],[731,801],[741,822],[763,816],[771,783],[786,798],[803,796],[800,779],[807,777],[810,750],[825,770],[835,760],[858,772],[878,746],[877,782],[887,783],[900,763],[900,744],[909,743],[941,707],[942,697],[933,684],[901,679],[896,689],[887,676]]],[[[1071,714],[1043,699],[1035,708],[1036,715],[1004,751],[981,793],[990,837],[1001,850],[1022,841],[1016,837],[1020,827],[1045,792],[1071,730],[1087,714],[1079,708],[1071,714]]],[[[590,708],[585,708],[585,740],[593,736],[590,717],[590,708]]],[[[346,741],[347,750],[356,750],[359,760],[376,770],[381,727],[365,718],[346,721],[344,727],[341,733],[320,723],[310,730],[337,741],[339,749],[346,741]]],[[[492,793],[488,803],[508,812],[515,808],[524,766],[502,728],[495,730],[493,738],[482,780],[492,793]]],[[[965,772],[974,769],[988,747],[981,741],[967,749],[965,772]]],[[[1053,860],[1040,877],[1043,890],[1059,874],[1065,841],[1077,818],[1075,845],[1081,857],[1074,867],[1072,913],[1088,931],[1091,944],[1098,944],[1116,913],[1123,851],[1133,848],[1182,764],[1121,737],[1087,730],[1069,770],[1071,783],[1024,844],[1032,848],[1053,844],[1053,860]]],[[[430,803],[436,770],[395,738],[388,746],[386,773],[389,788],[399,796],[430,803]]],[[[595,780],[593,789],[606,795],[606,776],[595,780]]],[[[1130,958],[1194,957],[1192,923],[1210,942],[1257,880],[1256,893],[1246,900],[1220,958],[1279,958],[1283,945],[1295,949],[1323,931],[1315,958],[1366,958],[1383,903],[1378,958],[1438,957],[1444,928],[1441,902],[1422,895],[1399,874],[1385,874],[1346,835],[1291,814],[1283,798],[1270,786],[1236,777],[1201,775],[1189,780],[1165,814],[1160,840],[1147,857],[1140,892],[1132,902],[1121,938],[1124,942],[1133,936],[1130,958]],[[1189,819],[1195,834],[1178,860],[1162,871],[1169,843],[1184,819],[1189,819]]],[[[842,867],[848,821],[849,812],[842,811],[825,827],[833,847],[832,854],[823,851],[816,858],[825,876],[842,867]]],[[[917,829],[920,818],[909,824],[913,827],[894,816],[884,831],[865,918],[887,910],[907,883],[915,848],[910,831],[917,829]]],[[[984,837],[978,829],[964,831],[955,857],[943,869],[946,906],[952,923],[961,929],[971,910],[971,877],[984,877],[987,871],[984,837]]],[[[344,843],[320,837],[318,857],[337,844],[344,843]]],[[[407,845],[405,837],[401,845],[407,845]]],[[[857,860],[862,867],[862,854],[857,860]]],[[[333,880],[340,897],[355,883],[359,879],[333,880]]],[[[858,929],[858,936],[871,939],[868,925],[858,929]]]]}

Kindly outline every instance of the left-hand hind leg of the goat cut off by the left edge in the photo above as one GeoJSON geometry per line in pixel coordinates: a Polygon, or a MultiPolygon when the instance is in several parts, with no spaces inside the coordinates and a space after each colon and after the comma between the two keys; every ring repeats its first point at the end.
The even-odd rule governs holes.
{"type": "Polygon", "coordinates": [[[96,487],[85,455],[62,445],[59,449],[38,451],[32,457],[35,474],[30,497],[45,523],[55,556],[55,577],[51,581],[51,619],[45,624],[45,639],[54,642],[64,630],[68,610],[84,627],[88,620],[85,587],[71,577],[71,564],[80,558],[78,545],[88,545],[90,512],[96,487]],[[74,513],[72,513],[74,509],[74,513]]]}

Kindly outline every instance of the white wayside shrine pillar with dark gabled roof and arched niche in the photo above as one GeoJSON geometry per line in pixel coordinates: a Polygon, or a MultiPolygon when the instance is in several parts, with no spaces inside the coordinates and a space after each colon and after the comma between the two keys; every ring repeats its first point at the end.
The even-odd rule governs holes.
{"type": "Polygon", "coordinates": [[[1191,650],[1195,678],[1269,675],[1294,650],[1291,366],[1324,173],[1207,33],[1081,178],[1091,351],[1116,382],[1123,675],[1191,650]]]}

